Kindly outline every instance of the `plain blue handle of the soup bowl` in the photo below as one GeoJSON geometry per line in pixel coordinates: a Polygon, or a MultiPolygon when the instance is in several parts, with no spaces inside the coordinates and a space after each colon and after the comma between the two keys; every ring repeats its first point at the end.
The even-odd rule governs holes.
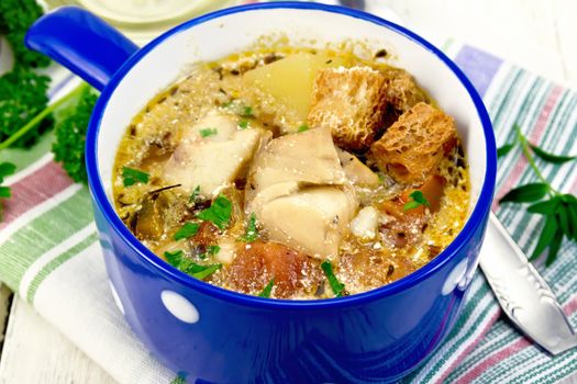
{"type": "Polygon", "coordinates": [[[24,43],[99,91],[138,49],[102,19],[78,7],[62,7],[40,18],[27,31],[24,43]]]}

